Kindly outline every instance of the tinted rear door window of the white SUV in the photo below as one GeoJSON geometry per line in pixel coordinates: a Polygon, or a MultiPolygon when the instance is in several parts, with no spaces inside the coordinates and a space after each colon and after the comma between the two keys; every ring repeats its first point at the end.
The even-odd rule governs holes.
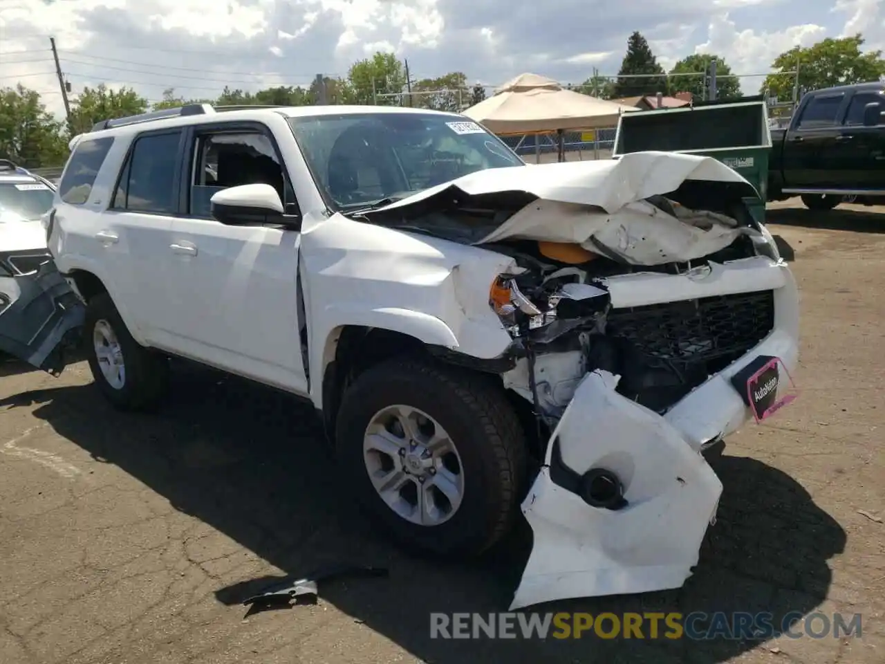
{"type": "Polygon", "coordinates": [[[120,174],[113,207],[129,212],[175,212],[175,162],[181,131],[142,135],[135,139],[120,174]]]}

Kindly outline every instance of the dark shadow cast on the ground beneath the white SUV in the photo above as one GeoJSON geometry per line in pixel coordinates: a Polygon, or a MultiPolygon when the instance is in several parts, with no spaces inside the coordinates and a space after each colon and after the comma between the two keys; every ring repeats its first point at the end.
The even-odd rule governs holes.
{"type": "MultiPolygon", "coordinates": [[[[328,582],[320,584],[320,596],[423,662],[720,662],[756,645],[747,639],[688,643],[588,635],[546,641],[431,638],[432,612],[507,610],[530,548],[527,526],[473,564],[412,558],[353,509],[303,405],[211,372],[176,374],[173,398],[154,415],[116,413],[92,385],[26,392],[3,399],[0,407],[40,404],[35,416],[59,435],[287,574],[339,563],[388,567],[386,580],[328,582]]],[[[843,529],[780,470],[728,455],[715,466],[725,485],[718,521],[683,588],[535,610],[769,611],[775,635],[784,616],[814,610],[831,581],[827,560],[843,552],[843,529]]],[[[257,583],[242,579],[217,589],[216,598],[244,613],[240,602],[257,583]]]]}

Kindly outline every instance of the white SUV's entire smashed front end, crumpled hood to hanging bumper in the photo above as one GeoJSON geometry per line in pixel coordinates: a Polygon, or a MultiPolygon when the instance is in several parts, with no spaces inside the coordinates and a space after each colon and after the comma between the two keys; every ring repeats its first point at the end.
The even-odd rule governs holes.
{"type": "Polygon", "coordinates": [[[796,283],[750,216],[755,190],[715,160],[511,170],[369,220],[516,263],[489,307],[512,337],[502,380],[532,405],[541,470],[512,608],[680,587],[722,491],[704,450],[791,398],[796,283]]]}

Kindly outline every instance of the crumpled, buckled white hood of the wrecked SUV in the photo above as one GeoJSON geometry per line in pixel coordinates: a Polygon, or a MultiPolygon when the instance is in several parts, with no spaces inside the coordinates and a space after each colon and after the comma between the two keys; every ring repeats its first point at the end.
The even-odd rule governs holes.
{"type": "MultiPolygon", "coordinates": [[[[699,259],[738,235],[758,233],[724,215],[684,207],[667,211],[645,200],[673,192],[685,181],[732,183],[741,197],[758,197],[750,182],[714,158],[648,151],[619,159],[478,171],[366,212],[366,218],[407,216],[410,208],[427,211],[436,202],[441,209],[452,201],[469,207],[465,198],[483,195],[528,195],[535,200],[469,243],[506,238],[578,243],[636,265],[699,259]]],[[[421,226],[415,220],[409,225],[421,226]]]]}

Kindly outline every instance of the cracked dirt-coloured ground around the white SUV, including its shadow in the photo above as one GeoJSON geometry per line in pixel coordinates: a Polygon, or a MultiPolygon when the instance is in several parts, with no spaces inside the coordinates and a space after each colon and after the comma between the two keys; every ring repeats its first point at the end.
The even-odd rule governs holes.
{"type": "Polygon", "coordinates": [[[727,442],[719,519],[679,591],[550,611],[863,614],[861,638],[442,641],[430,612],[505,610],[525,532],[444,566],[392,549],[351,509],[311,413],[204,371],[155,415],[113,412],[85,363],[0,378],[0,662],[885,661],[885,216],[795,201],[769,220],[802,290],[802,394],[727,442]],[[878,300],[878,301],[877,301],[878,300]],[[866,514],[865,514],[866,513],[866,514]],[[389,579],[330,582],[315,606],[246,615],[266,575],[329,561],[389,579]]]}

